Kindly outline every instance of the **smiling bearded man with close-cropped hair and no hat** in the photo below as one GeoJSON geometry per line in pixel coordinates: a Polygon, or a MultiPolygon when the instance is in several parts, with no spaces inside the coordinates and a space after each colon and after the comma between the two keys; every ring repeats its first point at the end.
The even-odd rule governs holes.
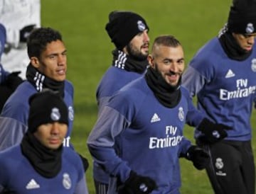
{"type": "Polygon", "coordinates": [[[110,176],[109,194],[178,194],[179,157],[204,169],[209,156],[183,137],[186,115],[203,115],[181,87],[181,43],[171,35],[154,40],[144,76],[114,93],[87,139],[93,159],[110,176]]]}

